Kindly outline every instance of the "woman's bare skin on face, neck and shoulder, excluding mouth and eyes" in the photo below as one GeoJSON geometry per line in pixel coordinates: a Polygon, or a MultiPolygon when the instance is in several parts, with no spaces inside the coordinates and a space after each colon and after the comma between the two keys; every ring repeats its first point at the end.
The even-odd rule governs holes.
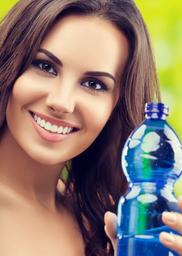
{"type": "MultiPolygon", "coordinates": [[[[55,198],[58,180],[66,161],[88,148],[112,115],[129,44],[107,22],[69,16],[55,23],[40,48],[59,58],[62,67],[51,61],[54,68],[49,72],[56,71],[55,76],[38,70],[33,62],[9,98],[8,125],[0,145],[0,255],[81,256],[85,244],[72,204],[68,198],[64,207],[55,198]],[[84,75],[88,71],[110,73],[116,84],[109,77],[84,75]],[[108,90],[88,89],[88,81],[95,79],[100,80],[96,89],[104,83],[108,90]],[[29,110],[80,130],[62,142],[47,142],[35,131],[29,110]]],[[[50,61],[42,52],[34,58],[38,59],[50,61]]],[[[64,191],[62,183],[59,189],[64,191]]]]}

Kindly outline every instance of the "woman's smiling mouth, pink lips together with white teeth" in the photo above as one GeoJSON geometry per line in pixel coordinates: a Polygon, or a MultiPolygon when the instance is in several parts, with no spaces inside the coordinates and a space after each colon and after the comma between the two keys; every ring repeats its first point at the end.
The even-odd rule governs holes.
{"type": "Polygon", "coordinates": [[[52,119],[51,117],[45,116],[43,114],[40,114],[40,117],[38,114],[39,113],[37,112],[34,113],[29,111],[32,124],[43,140],[49,142],[61,142],[68,139],[79,130],[76,127],[66,126],[66,124],[69,125],[69,123],[62,122],[57,119],[52,119]],[[46,118],[48,120],[46,120],[46,118]],[[52,123],[49,121],[52,121],[52,123]]]}

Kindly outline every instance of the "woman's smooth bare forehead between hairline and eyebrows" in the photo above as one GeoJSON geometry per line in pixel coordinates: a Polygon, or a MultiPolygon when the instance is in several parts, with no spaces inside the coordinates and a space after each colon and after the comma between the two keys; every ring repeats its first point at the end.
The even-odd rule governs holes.
{"type": "Polygon", "coordinates": [[[129,44],[112,24],[93,17],[66,16],[43,39],[45,48],[61,59],[63,67],[109,72],[119,78],[127,62],[129,44]]]}

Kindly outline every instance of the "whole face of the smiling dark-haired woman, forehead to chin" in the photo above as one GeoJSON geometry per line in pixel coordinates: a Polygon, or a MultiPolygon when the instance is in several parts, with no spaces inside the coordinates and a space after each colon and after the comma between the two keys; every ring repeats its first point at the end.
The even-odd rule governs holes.
{"type": "Polygon", "coordinates": [[[21,148],[45,164],[87,149],[118,101],[128,54],[109,23],[73,15],[55,23],[9,98],[8,128],[21,148]]]}

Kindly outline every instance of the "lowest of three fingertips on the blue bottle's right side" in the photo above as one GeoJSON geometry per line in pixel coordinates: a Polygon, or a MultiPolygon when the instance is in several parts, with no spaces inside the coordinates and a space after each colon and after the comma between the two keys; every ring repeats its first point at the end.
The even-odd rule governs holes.
{"type": "Polygon", "coordinates": [[[163,245],[170,250],[175,251],[179,255],[182,255],[182,237],[174,234],[162,232],[159,235],[159,240],[163,245]]]}

